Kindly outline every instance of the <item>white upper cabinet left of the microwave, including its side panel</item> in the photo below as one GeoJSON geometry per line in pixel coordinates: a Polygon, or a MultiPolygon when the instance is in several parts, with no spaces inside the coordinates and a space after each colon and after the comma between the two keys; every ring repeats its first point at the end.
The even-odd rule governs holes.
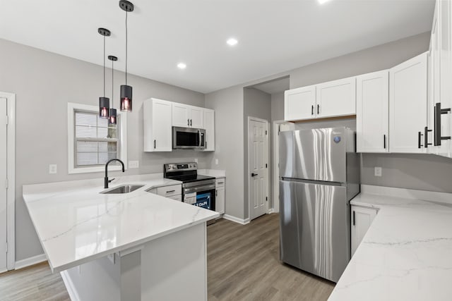
{"type": "Polygon", "coordinates": [[[145,152],[172,151],[171,102],[151,98],[143,102],[145,152]]]}

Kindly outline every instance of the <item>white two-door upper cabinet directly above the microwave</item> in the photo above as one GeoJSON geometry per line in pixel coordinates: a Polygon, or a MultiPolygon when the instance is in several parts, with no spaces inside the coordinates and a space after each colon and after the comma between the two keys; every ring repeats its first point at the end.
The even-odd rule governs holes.
{"type": "Polygon", "coordinates": [[[204,128],[203,108],[173,102],[172,126],[179,126],[182,128],[204,128]]]}

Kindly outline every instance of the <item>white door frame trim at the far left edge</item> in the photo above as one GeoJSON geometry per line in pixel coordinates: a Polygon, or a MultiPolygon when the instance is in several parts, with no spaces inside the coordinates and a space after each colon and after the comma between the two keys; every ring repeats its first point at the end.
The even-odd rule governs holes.
{"type": "Polygon", "coordinates": [[[6,269],[12,270],[16,264],[16,94],[0,92],[1,98],[6,98],[6,112],[8,113],[8,127],[6,130],[7,163],[6,176],[8,188],[6,189],[6,269]]]}

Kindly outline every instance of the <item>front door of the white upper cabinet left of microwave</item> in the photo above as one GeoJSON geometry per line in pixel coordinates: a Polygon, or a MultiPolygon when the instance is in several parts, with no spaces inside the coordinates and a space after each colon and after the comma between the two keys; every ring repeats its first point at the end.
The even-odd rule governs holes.
{"type": "Polygon", "coordinates": [[[153,151],[172,151],[171,102],[153,100],[153,151]]]}

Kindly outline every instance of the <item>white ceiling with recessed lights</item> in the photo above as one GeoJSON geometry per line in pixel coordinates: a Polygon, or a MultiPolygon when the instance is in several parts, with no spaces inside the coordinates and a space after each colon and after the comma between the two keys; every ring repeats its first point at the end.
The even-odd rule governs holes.
{"type": "MultiPolygon", "coordinates": [[[[129,73],[204,93],[426,32],[434,10],[434,0],[132,2],[129,73]]],[[[124,70],[118,3],[0,0],[0,38],[102,65],[97,27],[106,27],[107,54],[124,70]]]]}

